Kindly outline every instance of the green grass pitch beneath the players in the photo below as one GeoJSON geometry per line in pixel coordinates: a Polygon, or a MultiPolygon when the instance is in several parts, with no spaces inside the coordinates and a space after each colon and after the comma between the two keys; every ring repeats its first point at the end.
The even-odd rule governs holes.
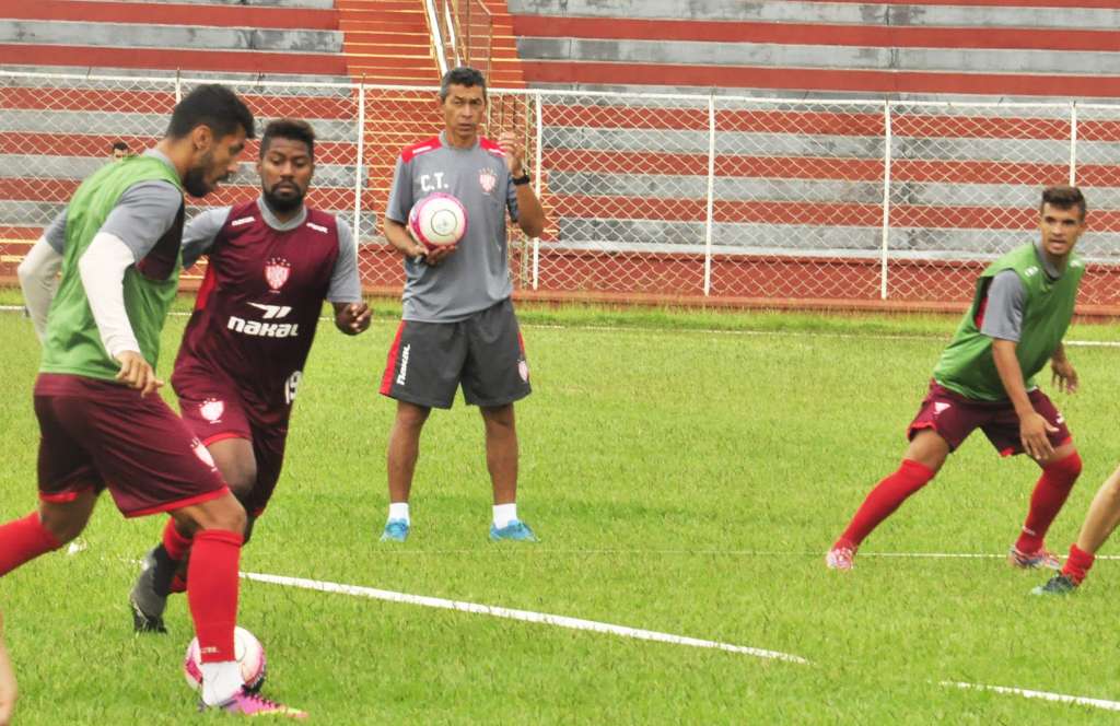
{"type": "MultiPolygon", "coordinates": [[[[4,301],[10,301],[4,300],[4,301]]],[[[418,605],[245,583],[241,624],[265,643],[267,692],[317,724],[1096,723],[1089,706],[942,681],[1120,699],[1101,561],[1083,592],[1030,597],[1045,576],[1001,559],[1037,476],[981,435],[865,543],[857,568],[823,553],[893,471],[903,431],[955,320],[604,308],[522,310],[534,393],[517,415],[520,513],[536,546],[486,539],[489,484],[477,411],[437,412],[422,440],[413,531],[377,542],[393,406],[375,381],[395,306],[347,338],[320,327],[283,477],[242,569],[614,623],[799,655],[797,664],[418,605]],[[885,553],[984,555],[980,558],[885,553]]],[[[183,317],[165,335],[166,373],[183,317]]],[[[1120,342],[1117,326],[1070,339],[1120,342]]],[[[38,346],[0,314],[0,518],[30,511],[38,346]]],[[[1053,392],[1085,462],[1052,529],[1068,547],[1120,460],[1116,360],[1071,347],[1082,392],[1053,392]]],[[[1045,387],[1048,389],[1048,387],[1045,387]]],[[[76,556],[0,584],[18,668],[17,723],[181,724],[192,636],[134,636],[134,560],[162,521],[103,499],[76,556]]],[[[1110,542],[1104,555],[1116,553],[1110,542]]],[[[208,720],[208,719],[203,719],[208,720]]],[[[221,720],[221,718],[220,718],[221,720]]]]}

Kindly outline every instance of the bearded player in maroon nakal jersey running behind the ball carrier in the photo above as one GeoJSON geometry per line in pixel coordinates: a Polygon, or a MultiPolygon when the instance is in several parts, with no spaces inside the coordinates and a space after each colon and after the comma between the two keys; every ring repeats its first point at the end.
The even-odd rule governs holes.
{"type": "MultiPolygon", "coordinates": [[[[245,506],[245,541],[280,476],[288,419],[323,301],[347,335],[370,327],[349,229],[304,203],[315,132],[272,121],[261,137],[261,196],[207,211],[184,231],[184,266],[207,254],[171,385],[187,426],[245,506]]],[[[194,532],[168,520],[130,596],[139,632],[166,632],[164,608],[183,580],[194,532]],[[178,574],[178,577],[177,577],[178,574]]]]}

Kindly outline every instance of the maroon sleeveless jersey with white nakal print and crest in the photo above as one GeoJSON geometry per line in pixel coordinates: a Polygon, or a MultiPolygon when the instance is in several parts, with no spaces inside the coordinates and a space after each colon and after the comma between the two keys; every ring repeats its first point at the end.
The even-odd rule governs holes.
{"type": "Polygon", "coordinates": [[[338,254],[329,214],[308,208],[304,224],[281,232],[255,199],[234,206],[209,249],[172,378],[217,371],[253,408],[286,415],[338,254]]]}

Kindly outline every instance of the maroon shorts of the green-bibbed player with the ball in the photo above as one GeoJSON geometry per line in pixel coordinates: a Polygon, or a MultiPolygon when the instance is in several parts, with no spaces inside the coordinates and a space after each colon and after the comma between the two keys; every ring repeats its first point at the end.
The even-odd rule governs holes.
{"type": "Polygon", "coordinates": [[[157,393],[41,373],[39,497],[68,502],[108,486],[125,516],[176,510],[228,492],[209,452],[157,393]]]}

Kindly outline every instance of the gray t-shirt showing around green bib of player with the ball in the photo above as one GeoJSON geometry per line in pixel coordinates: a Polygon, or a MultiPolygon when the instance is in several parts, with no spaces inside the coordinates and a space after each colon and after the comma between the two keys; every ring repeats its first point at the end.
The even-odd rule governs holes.
{"type": "MultiPolygon", "coordinates": [[[[171,160],[161,151],[148,149],[143,155],[155,157],[175,168],[171,160]]],[[[101,232],[120,238],[132,250],[132,257],[142,260],[171,229],[180,206],[183,206],[183,193],[174,185],[159,180],[140,182],[124,190],[116,201],[116,206],[101,225],[101,232]]],[[[63,253],[66,246],[65,208],[47,225],[43,236],[55,252],[63,253]]]]}

